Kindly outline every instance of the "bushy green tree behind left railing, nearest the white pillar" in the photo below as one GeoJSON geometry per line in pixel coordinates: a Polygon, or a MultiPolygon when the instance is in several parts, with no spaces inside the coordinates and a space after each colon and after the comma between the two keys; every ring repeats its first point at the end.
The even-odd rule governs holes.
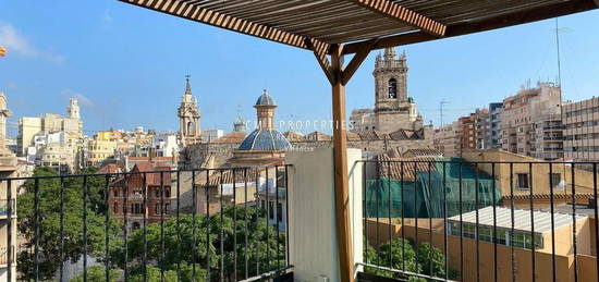
{"type": "MultiPolygon", "coordinates": [[[[163,237],[161,237],[160,223],[148,224],[146,228],[148,246],[146,261],[156,261],[155,266],[158,269],[163,266],[166,271],[175,271],[176,273],[178,263],[181,263],[183,273],[183,265],[195,261],[198,266],[196,267],[197,278],[199,278],[199,271],[204,271],[209,267],[211,280],[218,280],[222,262],[222,272],[225,274],[224,280],[235,281],[233,275],[235,266],[237,278],[245,278],[246,257],[249,277],[258,274],[258,271],[264,273],[284,266],[285,237],[276,229],[266,224],[264,210],[243,207],[227,208],[222,213],[222,220],[220,213],[211,214],[209,218],[196,214],[195,221],[192,214],[181,214],[179,229],[175,217],[164,220],[163,226],[163,237]],[[247,232],[245,229],[246,219],[247,232]],[[194,224],[196,234],[195,257],[194,224]],[[209,230],[209,238],[207,237],[207,230],[209,230]],[[246,235],[247,245],[245,244],[246,235]],[[163,259],[162,240],[164,243],[163,259]]],[[[136,268],[143,268],[143,263],[139,262],[144,260],[144,230],[140,229],[131,234],[127,244],[130,265],[135,261],[138,262],[138,266],[135,266],[136,268]]],[[[124,255],[121,250],[114,254],[113,261],[118,261],[118,265],[123,268],[123,258],[124,255]]],[[[191,273],[192,267],[188,268],[191,273]]]]}

